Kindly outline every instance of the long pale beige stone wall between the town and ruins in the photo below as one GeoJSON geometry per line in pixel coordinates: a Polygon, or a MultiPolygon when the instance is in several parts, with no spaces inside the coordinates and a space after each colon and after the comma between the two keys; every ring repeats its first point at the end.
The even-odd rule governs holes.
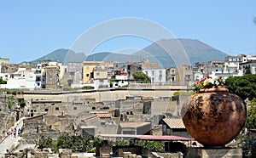
{"type": "Polygon", "coordinates": [[[73,100],[82,99],[95,99],[96,102],[113,101],[118,99],[126,99],[126,96],[142,96],[143,98],[158,98],[158,97],[172,97],[173,93],[183,87],[165,87],[154,86],[148,87],[131,87],[123,90],[107,90],[107,91],[77,91],[73,93],[69,92],[49,92],[49,93],[24,93],[24,99],[30,100],[61,100],[62,102],[73,102],[73,100]],[[152,87],[152,88],[151,88],[152,87]],[[146,89],[145,89],[146,88],[146,89]],[[151,88],[151,89],[150,89],[151,88]],[[166,88],[166,89],[161,89],[166,88]],[[173,89],[173,90],[172,90],[173,89]],[[86,92],[86,93],[85,93],[86,92]]]}

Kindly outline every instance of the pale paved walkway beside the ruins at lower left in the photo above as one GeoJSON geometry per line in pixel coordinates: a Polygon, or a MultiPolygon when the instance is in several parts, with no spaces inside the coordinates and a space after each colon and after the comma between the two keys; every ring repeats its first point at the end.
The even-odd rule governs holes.
{"type": "MultiPolygon", "coordinates": [[[[23,126],[23,120],[25,117],[22,117],[19,121],[15,123],[14,127],[11,127],[10,129],[17,128],[21,129],[23,126]]],[[[14,136],[9,136],[7,138],[4,138],[3,141],[0,143],[0,156],[2,157],[5,153],[7,153],[7,150],[12,148],[12,146],[15,146],[18,144],[19,140],[22,139],[21,137],[14,137],[14,136]]]]}

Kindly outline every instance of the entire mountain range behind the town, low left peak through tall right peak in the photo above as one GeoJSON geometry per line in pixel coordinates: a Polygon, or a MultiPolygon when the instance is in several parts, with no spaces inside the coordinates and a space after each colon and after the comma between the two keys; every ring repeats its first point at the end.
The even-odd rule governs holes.
{"type": "Polygon", "coordinates": [[[75,53],[70,49],[57,49],[44,57],[33,60],[37,64],[39,60],[57,60],[63,64],[70,61],[139,61],[148,59],[150,62],[159,62],[161,67],[170,68],[181,64],[194,65],[196,62],[205,63],[212,60],[224,60],[227,54],[212,48],[204,42],[196,39],[162,39],[153,42],[148,47],[134,54],[115,54],[102,52],[90,54],[87,58],[83,53],[75,53]],[[175,62],[174,62],[175,61],[175,62]]]}

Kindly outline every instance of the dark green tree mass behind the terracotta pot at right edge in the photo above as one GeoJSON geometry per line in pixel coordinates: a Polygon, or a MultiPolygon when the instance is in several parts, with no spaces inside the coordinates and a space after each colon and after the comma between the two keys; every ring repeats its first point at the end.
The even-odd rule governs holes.
{"type": "Polygon", "coordinates": [[[230,77],[226,79],[225,85],[230,93],[236,93],[241,99],[256,98],[256,75],[230,77]]]}

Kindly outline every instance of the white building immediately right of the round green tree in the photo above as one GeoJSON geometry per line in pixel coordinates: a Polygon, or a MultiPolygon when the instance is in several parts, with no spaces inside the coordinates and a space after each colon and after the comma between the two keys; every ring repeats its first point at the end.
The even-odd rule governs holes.
{"type": "Polygon", "coordinates": [[[143,73],[151,79],[151,84],[166,83],[166,69],[143,69],[143,73]]]}

